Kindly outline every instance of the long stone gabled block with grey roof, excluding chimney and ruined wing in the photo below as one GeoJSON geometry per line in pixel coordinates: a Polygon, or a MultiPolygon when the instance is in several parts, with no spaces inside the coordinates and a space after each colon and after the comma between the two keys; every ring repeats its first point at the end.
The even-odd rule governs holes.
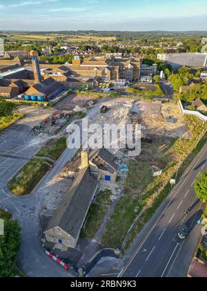
{"type": "Polygon", "coordinates": [[[46,240],[55,243],[55,248],[65,251],[68,248],[75,249],[97,185],[98,179],[90,173],[90,168],[86,166],[78,171],[44,231],[46,240]]]}

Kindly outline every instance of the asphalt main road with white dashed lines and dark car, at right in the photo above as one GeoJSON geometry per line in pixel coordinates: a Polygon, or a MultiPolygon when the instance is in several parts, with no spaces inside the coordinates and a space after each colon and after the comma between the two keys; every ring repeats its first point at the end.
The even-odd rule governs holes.
{"type": "Polygon", "coordinates": [[[130,259],[119,276],[185,277],[188,274],[201,237],[197,220],[203,212],[202,204],[195,195],[194,182],[201,172],[207,170],[206,160],[207,145],[140,233],[131,249],[130,259]],[[192,210],[185,215],[189,207],[192,210]],[[177,231],[185,223],[190,226],[190,234],[182,241],[177,237],[177,231]]]}

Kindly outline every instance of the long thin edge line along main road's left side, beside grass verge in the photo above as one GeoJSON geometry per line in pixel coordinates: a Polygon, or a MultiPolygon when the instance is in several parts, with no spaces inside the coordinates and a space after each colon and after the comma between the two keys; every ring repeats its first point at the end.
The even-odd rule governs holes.
{"type": "MultiPolygon", "coordinates": [[[[179,193],[179,190],[181,189],[181,187],[185,184],[185,182],[187,181],[188,177],[193,173],[193,168],[195,168],[195,166],[197,166],[197,164],[199,164],[199,161],[202,159],[202,157],[204,156],[205,152],[207,150],[207,147],[203,148],[199,154],[198,160],[195,160],[195,162],[193,161],[193,164],[190,165],[190,172],[188,173],[188,175],[186,176],[186,178],[184,179],[184,181],[180,184],[179,188],[177,189],[177,191],[175,191],[175,195],[173,195],[172,199],[170,200],[170,202],[168,203],[168,205],[166,206],[166,208],[164,209],[164,211],[161,213],[161,215],[159,216],[159,218],[157,219],[157,221],[155,222],[155,224],[153,225],[152,229],[149,231],[148,235],[146,236],[146,238],[144,238],[144,240],[142,241],[142,243],[139,245],[137,251],[135,252],[135,254],[133,254],[133,256],[130,258],[130,260],[128,261],[128,263],[126,264],[126,266],[121,270],[121,272],[119,273],[118,277],[121,277],[124,272],[126,272],[126,270],[128,269],[128,267],[130,266],[130,263],[132,263],[132,261],[135,259],[135,256],[137,256],[137,254],[139,253],[141,247],[143,247],[144,243],[146,242],[146,240],[148,239],[148,237],[150,236],[150,234],[152,233],[152,231],[155,229],[155,227],[157,226],[157,223],[159,222],[159,220],[162,218],[162,216],[164,215],[164,213],[166,212],[166,210],[168,209],[168,207],[170,206],[170,204],[172,203],[172,201],[175,199],[175,197],[177,196],[177,194],[179,193]]],[[[188,170],[188,169],[186,169],[188,170]]],[[[186,172],[186,171],[185,171],[186,172]]]]}

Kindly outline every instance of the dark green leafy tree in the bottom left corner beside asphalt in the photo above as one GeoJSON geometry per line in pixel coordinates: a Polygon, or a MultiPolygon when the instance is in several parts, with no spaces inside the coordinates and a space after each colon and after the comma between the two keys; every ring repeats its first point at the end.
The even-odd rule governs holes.
{"type": "Polygon", "coordinates": [[[0,236],[0,276],[12,276],[20,246],[20,227],[17,221],[4,220],[4,235],[0,236]]]}

